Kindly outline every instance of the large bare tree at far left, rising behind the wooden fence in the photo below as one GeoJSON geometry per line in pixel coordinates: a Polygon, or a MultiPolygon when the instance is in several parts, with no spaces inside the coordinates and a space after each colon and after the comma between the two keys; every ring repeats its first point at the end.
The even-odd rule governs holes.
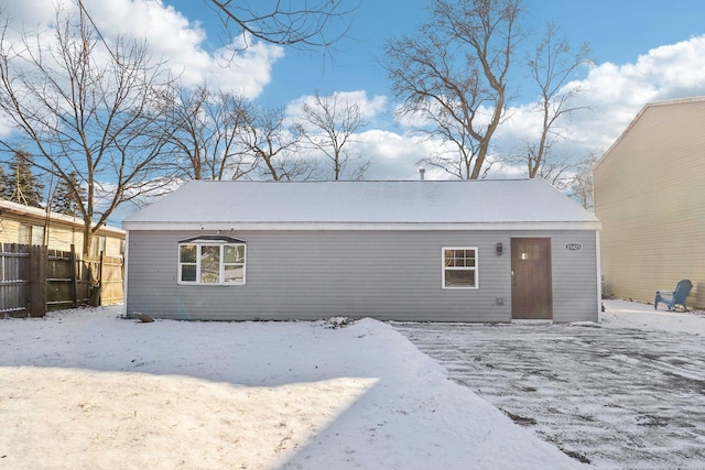
{"type": "Polygon", "coordinates": [[[19,43],[8,19],[0,29],[0,111],[14,125],[0,147],[31,151],[36,167],[66,184],[87,254],[118,206],[163,184],[150,177],[169,138],[161,121],[170,77],[144,43],[118,37],[109,48],[83,9],[78,18],[55,13],[48,34],[23,31],[19,43]]]}

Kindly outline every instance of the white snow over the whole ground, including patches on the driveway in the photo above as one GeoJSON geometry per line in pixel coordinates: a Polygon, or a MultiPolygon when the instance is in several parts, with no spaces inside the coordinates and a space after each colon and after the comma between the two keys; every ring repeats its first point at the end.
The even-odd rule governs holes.
{"type": "MultiPolygon", "coordinates": [[[[509,389],[521,383],[521,393],[540,398],[527,403],[551,402],[565,393],[556,383],[568,381],[568,389],[581,386],[570,383],[576,379],[568,371],[581,362],[570,360],[570,354],[555,357],[551,367],[540,369],[544,378],[553,374],[561,380],[542,381],[541,374],[529,374],[521,382],[521,376],[516,379],[501,370],[499,354],[495,367],[487,367],[495,359],[482,348],[492,342],[503,345],[514,369],[524,360],[511,345],[514,337],[505,336],[510,331],[532,336],[556,331],[552,338],[539,335],[533,342],[574,345],[577,358],[586,351],[587,342],[574,336],[575,330],[628,332],[623,338],[629,339],[623,339],[619,351],[604,343],[597,347],[601,356],[589,356],[593,361],[611,358],[608,367],[620,364],[605,376],[619,376],[623,371],[638,375],[630,368],[636,359],[629,350],[666,338],[674,349],[668,358],[652,358],[652,365],[662,371],[661,379],[681,381],[669,384],[687,383],[691,389],[673,390],[661,398],[663,412],[646,414],[641,427],[671,430],[675,417],[666,412],[673,407],[669,402],[677,398],[699,407],[687,409],[695,413],[688,429],[703,448],[705,318],[698,314],[653,314],[652,307],[648,308],[651,310],[640,311],[637,304],[609,303],[600,327],[512,325],[431,331],[437,345],[452,345],[453,331],[482,331],[474,337],[477,343],[465,347],[475,349],[473,363],[466,369],[477,362],[497,373],[490,383],[467,386],[457,383],[457,371],[447,361],[441,358],[444,365],[440,365],[399,332],[409,335],[412,325],[371,319],[344,327],[334,320],[141,324],[121,318],[122,307],[0,320],[0,469],[590,468],[581,463],[581,458],[598,468],[623,467],[609,452],[595,457],[578,441],[554,438],[564,430],[575,434],[574,423],[546,418],[550,423],[544,424],[542,412],[532,417],[530,408],[511,408],[509,402],[485,393],[486,386],[501,390],[501,382],[509,389]],[[448,373],[454,380],[448,380],[448,373]],[[516,424],[474,391],[505,412],[514,409],[514,422],[528,418],[538,424],[516,424]],[[699,401],[690,403],[693,397],[699,401]],[[557,433],[552,434],[551,426],[557,426],[557,433]]],[[[456,347],[438,348],[448,352],[456,347]]],[[[630,406],[638,405],[634,394],[652,403],[664,392],[663,387],[651,391],[650,384],[655,385],[649,380],[637,381],[630,395],[586,389],[583,397],[609,395],[615,409],[626,404],[622,415],[628,415],[630,406]]],[[[600,406],[609,406],[587,401],[584,409],[579,394],[572,400],[576,402],[571,406],[583,409],[586,423],[605,416],[600,406]]],[[[626,439],[620,436],[640,427],[636,423],[620,429],[621,424],[610,424],[611,434],[606,438],[612,440],[604,444],[617,453],[630,445],[619,441],[626,439]]],[[[696,460],[690,444],[675,438],[666,444],[685,451],[680,463],[653,460],[652,468],[705,464],[696,460]]],[[[631,463],[627,467],[641,467],[640,461],[631,463]]]]}

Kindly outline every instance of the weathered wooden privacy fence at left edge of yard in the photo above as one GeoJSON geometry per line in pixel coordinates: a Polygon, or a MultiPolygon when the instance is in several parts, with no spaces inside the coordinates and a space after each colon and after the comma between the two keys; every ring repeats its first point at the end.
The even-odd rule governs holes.
{"type": "Polygon", "coordinates": [[[80,259],[75,250],[0,244],[0,317],[123,300],[122,258],[80,259]]]}

